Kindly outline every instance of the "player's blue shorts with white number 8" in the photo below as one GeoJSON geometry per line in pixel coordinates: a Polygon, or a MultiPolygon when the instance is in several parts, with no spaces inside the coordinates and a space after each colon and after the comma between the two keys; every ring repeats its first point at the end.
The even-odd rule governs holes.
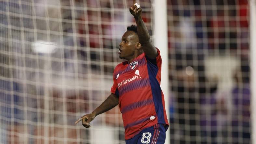
{"type": "Polygon", "coordinates": [[[156,124],[145,128],[133,138],[125,140],[126,144],[164,144],[165,128],[164,124],[156,124]]]}

